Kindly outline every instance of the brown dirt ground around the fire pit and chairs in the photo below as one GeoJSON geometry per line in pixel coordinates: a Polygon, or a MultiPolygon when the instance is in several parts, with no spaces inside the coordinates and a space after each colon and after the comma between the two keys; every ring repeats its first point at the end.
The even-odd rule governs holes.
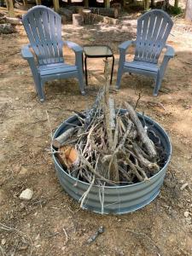
{"type": "MultiPolygon", "coordinates": [[[[80,45],[110,45],[114,85],[118,45],[136,38],[136,19],[126,16],[117,26],[63,26],[63,38],[80,45]]],[[[79,203],[61,189],[49,154],[50,130],[94,102],[103,83],[102,59],[88,60],[86,96],[79,94],[75,79],[53,81],[45,85],[46,101],[41,103],[29,66],[20,56],[21,45],[27,43],[22,26],[16,26],[15,34],[1,35],[1,255],[192,255],[192,26],[174,22],[168,44],[176,56],[169,62],[159,96],[152,96],[152,79],[129,74],[113,93],[118,103],[134,103],[142,91],[137,110],[166,129],[173,147],[160,195],[147,207],[119,216],[79,209],[79,203]],[[26,188],[34,191],[31,201],[19,199],[26,188]],[[104,233],[88,244],[100,226],[104,233]]],[[[72,63],[73,52],[64,50],[66,61],[72,63]]]]}

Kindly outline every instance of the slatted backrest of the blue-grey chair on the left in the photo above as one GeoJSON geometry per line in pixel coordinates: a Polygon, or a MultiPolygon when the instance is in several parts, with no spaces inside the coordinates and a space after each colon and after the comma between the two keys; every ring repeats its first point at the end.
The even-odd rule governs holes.
{"type": "Polygon", "coordinates": [[[22,21],[39,65],[63,61],[60,15],[38,5],[30,9],[22,21]]]}

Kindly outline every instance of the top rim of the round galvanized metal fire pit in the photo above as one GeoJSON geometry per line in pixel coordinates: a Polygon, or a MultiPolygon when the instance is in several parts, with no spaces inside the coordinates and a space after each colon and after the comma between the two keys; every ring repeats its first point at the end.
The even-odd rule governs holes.
{"type": "MultiPolygon", "coordinates": [[[[126,109],[120,109],[120,111],[121,111],[122,113],[127,112],[126,109]]],[[[166,137],[167,143],[169,143],[169,146],[170,146],[170,154],[167,154],[167,160],[166,160],[165,165],[164,165],[162,168],[160,168],[160,171],[159,171],[159,172],[155,173],[152,177],[149,177],[149,178],[148,178],[148,181],[142,181],[142,182],[138,182],[138,183],[134,183],[134,184],[120,185],[120,186],[106,186],[106,185],[105,185],[105,188],[106,188],[106,189],[121,189],[121,188],[123,189],[123,188],[126,188],[126,187],[129,187],[129,188],[130,188],[130,187],[138,186],[138,185],[141,185],[142,183],[148,183],[148,182],[150,182],[153,178],[155,178],[156,176],[158,176],[158,175],[160,174],[160,172],[163,172],[163,170],[166,168],[166,166],[168,166],[168,164],[169,164],[169,162],[170,162],[170,160],[171,160],[171,156],[172,156],[172,143],[171,143],[170,138],[168,137],[166,131],[164,130],[164,128],[162,128],[162,126],[161,126],[158,122],[154,121],[154,119],[149,118],[147,115],[143,115],[142,113],[138,113],[138,112],[137,112],[137,115],[138,115],[139,117],[142,117],[142,116],[143,116],[144,119],[148,119],[149,121],[153,121],[153,122],[155,123],[155,125],[158,126],[158,128],[160,128],[160,130],[164,132],[164,135],[165,135],[165,137],[166,137]]],[[[67,125],[68,125],[69,121],[70,121],[71,119],[73,119],[74,117],[75,117],[75,115],[72,115],[72,116],[70,116],[68,119],[65,119],[65,120],[61,123],[61,125],[59,125],[59,126],[56,128],[55,133],[54,133],[54,135],[53,135],[53,138],[55,138],[55,135],[56,135],[57,132],[61,129],[61,127],[65,124],[65,122],[67,122],[67,125]]],[[[54,148],[53,148],[53,145],[51,144],[51,151],[53,151],[53,149],[54,149],[54,148]]],[[[69,175],[69,173],[67,173],[67,172],[64,170],[64,168],[61,167],[61,164],[60,164],[59,161],[56,159],[55,154],[53,154],[53,159],[54,159],[55,164],[61,169],[61,171],[62,171],[62,172],[65,172],[65,174],[67,174],[68,177],[72,178],[75,183],[79,182],[79,183],[84,183],[84,185],[88,185],[88,186],[90,185],[89,183],[85,183],[84,181],[81,181],[81,180],[79,180],[78,178],[75,178],[75,177],[69,175]]],[[[98,185],[93,185],[93,187],[98,188],[99,186],[98,186],[98,185]]]]}

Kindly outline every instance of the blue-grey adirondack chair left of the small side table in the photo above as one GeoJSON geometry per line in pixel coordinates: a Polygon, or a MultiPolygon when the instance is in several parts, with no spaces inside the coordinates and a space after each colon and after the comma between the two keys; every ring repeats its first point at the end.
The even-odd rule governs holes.
{"type": "Polygon", "coordinates": [[[21,54],[29,63],[40,101],[44,101],[44,83],[51,79],[79,79],[84,95],[82,68],[83,49],[70,41],[62,41],[61,16],[52,9],[38,5],[22,18],[30,44],[22,47],[21,54]],[[62,48],[66,44],[75,52],[75,65],[65,63],[62,48]]]}

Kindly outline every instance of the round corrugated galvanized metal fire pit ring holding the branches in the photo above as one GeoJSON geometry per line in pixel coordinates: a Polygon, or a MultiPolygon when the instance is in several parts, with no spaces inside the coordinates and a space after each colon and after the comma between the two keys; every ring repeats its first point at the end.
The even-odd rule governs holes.
{"type": "MultiPolygon", "coordinates": [[[[122,110],[122,112],[124,111],[122,110]]],[[[166,153],[165,165],[160,169],[160,172],[150,177],[148,181],[125,186],[105,186],[104,188],[96,185],[93,186],[84,201],[83,207],[85,209],[93,212],[113,214],[133,212],[148,205],[160,193],[160,187],[164,181],[166,169],[171,159],[172,145],[166,131],[158,123],[147,116],[142,117],[139,113],[138,117],[142,122],[144,120],[145,125],[150,126],[150,129],[155,131],[155,134],[160,137],[161,145],[166,153]],[[101,199],[103,203],[101,203],[101,199]]],[[[55,131],[54,138],[70,128],[68,123],[78,124],[79,120],[76,116],[72,116],[64,121],[55,131]]],[[[153,137],[151,139],[153,140],[153,137]]],[[[79,201],[84,192],[89,189],[90,184],[71,177],[63,169],[55,154],[53,154],[53,159],[61,186],[69,195],[79,201]]]]}

